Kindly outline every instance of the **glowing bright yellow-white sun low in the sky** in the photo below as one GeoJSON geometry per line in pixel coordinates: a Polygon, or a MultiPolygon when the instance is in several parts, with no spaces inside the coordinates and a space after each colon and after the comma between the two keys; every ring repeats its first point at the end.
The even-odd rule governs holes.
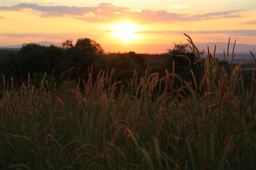
{"type": "Polygon", "coordinates": [[[130,43],[133,40],[139,39],[139,30],[137,25],[130,22],[120,22],[113,26],[113,36],[120,39],[123,43],[130,43]]]}

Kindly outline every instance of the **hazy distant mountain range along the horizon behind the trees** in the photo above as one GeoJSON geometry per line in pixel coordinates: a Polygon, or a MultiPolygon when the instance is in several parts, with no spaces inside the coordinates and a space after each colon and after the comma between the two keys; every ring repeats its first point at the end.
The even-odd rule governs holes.
{"type": "MultiPolygon", "coordinates": [[[[51,41],[41,41],[37,42],[37,44],[45,46],[49,46],[51,44],[55,46],[61,46],[61,43],[55,43],[51,41]]],[[[195,44],[200,51],[204,50],[205,52],[207,52],[207,47],[209,47],[209,51],[213,53],[216,45],[216,53],[223,53],[223,50],[225,50],[225,53],[227,53],[228,43],[225,42],[209,42],[195,44]]],[[[167,52],[167,49],[172,49],[174,47],[174,44],[101,44],[101,46],[106,53],[123,53],[134,51],[135,53],[161,54],[167,52]]],[[[22,44],[1,46],[0,49],[20,47],[22,47],[22,44]]],[[[230,43],[229,53],[232,53],[232,49],[233,43],[230,43]]],[[[252,52],[253,54],[256,54],[256,45],[236,44],[234,52],[246,54],[252,52]]]]}

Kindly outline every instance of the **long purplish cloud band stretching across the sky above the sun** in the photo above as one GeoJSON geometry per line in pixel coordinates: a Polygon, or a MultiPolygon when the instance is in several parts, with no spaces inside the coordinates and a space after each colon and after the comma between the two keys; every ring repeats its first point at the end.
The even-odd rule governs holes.
{"type": "MultiPolygon", "coordinates": [[[[188,6],[174,5],[171,8],[188,8],[188,6]]],[[[165,10],[134,10],[126,6],[118,6],[111,3],[100,3],[96,7],[68,7],[68,6],[42,6],[38,4],[21,3],[11,7],[2,7],[2,11],[22,11],[32,9],[42,12],[41,17],[61,17],[70,15],[75,19],[87,22],[115,22],[123,19],[133,20],[139,23],[154,22],[175,22],[175,21],[194,21],[213,18],[241,17],[241,10],[212,12],[196,15],[187,15],[165,10]]]]}

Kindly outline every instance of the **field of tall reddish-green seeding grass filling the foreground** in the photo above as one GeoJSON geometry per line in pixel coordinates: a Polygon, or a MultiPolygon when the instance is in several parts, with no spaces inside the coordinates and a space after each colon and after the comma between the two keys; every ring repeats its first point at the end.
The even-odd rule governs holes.
{"type": "Polygon", "coordinates": [[[130,93],[112,80],[114,69],[94,81],[90,69],[81,89],[69,81],[56,89],[46,75],[39,88],[30,79],[18,88],[4,80],[1,168],[253,169],[255,79],[245,88],[242,64],[228,77],[218,67],[225,60],[210,53],[200,60],[205,74],[198,81],[191,70],[193,82],[175,69],[164,78],[135,70],[130,93]],[[176,81],[182,85],[174,89],[176,81]]]}

